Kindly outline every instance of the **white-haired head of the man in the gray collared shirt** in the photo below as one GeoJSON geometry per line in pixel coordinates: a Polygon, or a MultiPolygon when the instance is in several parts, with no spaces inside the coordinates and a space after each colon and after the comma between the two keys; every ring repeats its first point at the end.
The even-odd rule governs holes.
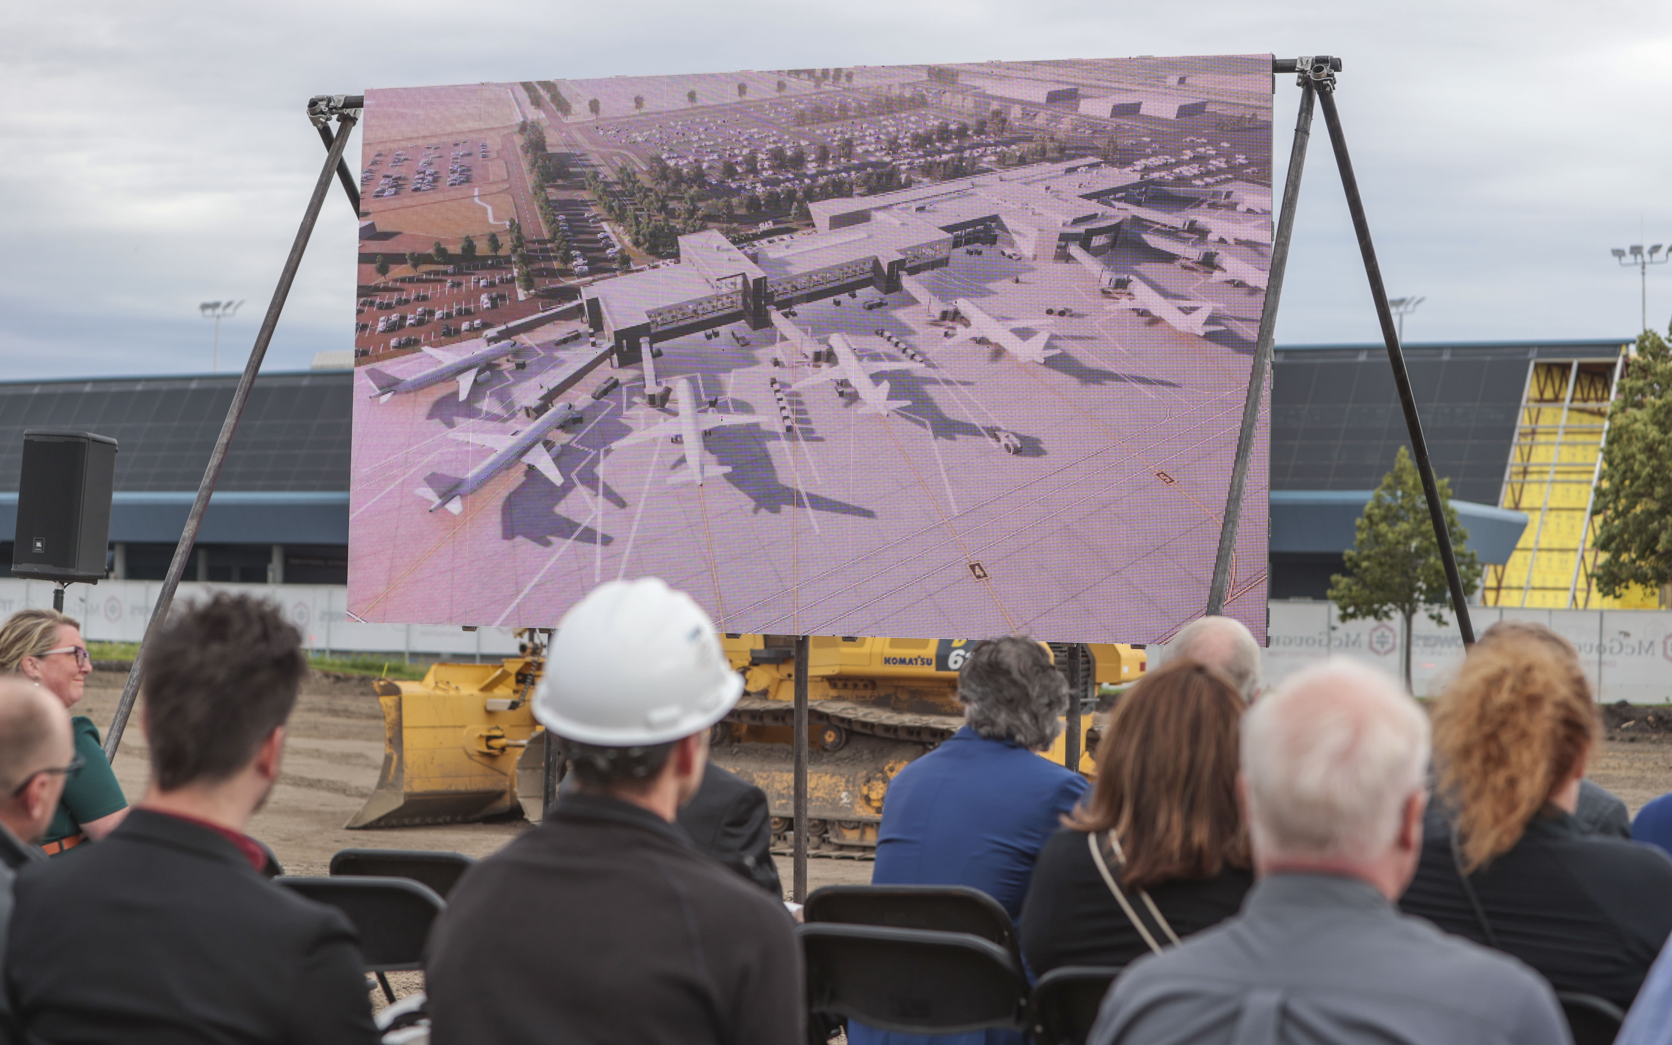
{"type": "Polygon", "coordinates": [[[1242,717],[1249,839],[1262,859],[1371,861],[1423,788],[1428,716],[1386,674],[1331,659],[1242,717]]]}

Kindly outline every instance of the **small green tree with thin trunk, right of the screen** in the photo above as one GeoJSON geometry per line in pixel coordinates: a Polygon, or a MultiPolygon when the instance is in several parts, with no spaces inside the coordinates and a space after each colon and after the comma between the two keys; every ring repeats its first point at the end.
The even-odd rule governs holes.
{"type": "MultiPolygon", "coordinates": [[[[1480,585],[1480,557],[1466,547],[1468,530],[1458,523],[1451,507],[1451,483],[1440,480],[1446,530],[1463,575],[1463,590],[1480,585]]],[[[1329,600],[1343,620],[1388,620],[1398,614],[1404,620],[1404,686],[1411,686],[1411,620],[1418,612],[1443,625],[1445,607],[1451,605],[1446,567],[1440,558],[1440,542],[1423,497],[1423,480],[1411,455],[1399,446],[1393,472],[1364,505],[1358,520],[1353,550],[1346,553],[1346,575],[1329,579],[1329,600]]]]}

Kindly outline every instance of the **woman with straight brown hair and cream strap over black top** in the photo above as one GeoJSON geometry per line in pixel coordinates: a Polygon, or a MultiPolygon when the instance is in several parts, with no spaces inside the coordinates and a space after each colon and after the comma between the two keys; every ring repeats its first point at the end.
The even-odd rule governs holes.
{"type": "Polygon", "coordinates": [[[1237,809],[1244,707],[1231,679],[1179,659],[1120,697],[1090,799],[1033,868],[1022,908],[1033,975],[1127,965],[1237,913],[1254,884],[1237,809]]]}

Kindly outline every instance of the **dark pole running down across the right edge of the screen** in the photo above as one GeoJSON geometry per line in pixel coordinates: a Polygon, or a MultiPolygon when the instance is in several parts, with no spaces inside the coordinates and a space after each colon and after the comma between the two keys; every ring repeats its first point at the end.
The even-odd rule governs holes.
{"type": "Polygon", "coordinates": [[[1266,375],[1271,373],[1271,346],[1277,334],[1277,301],[1282,298],[1282,274],[1289,268],[1289,241],[1294,239],[1294,211],[1301,201],[1301,171],[1306,167],[1306,145],[1313,137],[1314,97],[1313,85],[1306,79],[1306,74],[1302,74],[1301,114],[1294,119],[1294,145],[1289,149],[1289,172],[1282,179],[1282,207],[1277,211],[1277,229],[1271,241],[1266,304],[1261,309],[1259,336],[1254,341],[1249,391],[1242,401],[1242,430],[1237,433],[1237,456],[1231,466],[1231,488],[1226,490],[1226,517],[1219,528],[1214,580],[1207,589],[1207,615],[1211,617],[1226,612],[1226,597],[1231,587],[1231,557],[1236,555],[1237,527],[1242,523],[1242,492],[1247,485],[1249,460],[1254,455],[1254,428],[1259,423],[1259,406],[1266,398],[1266,375]]]}

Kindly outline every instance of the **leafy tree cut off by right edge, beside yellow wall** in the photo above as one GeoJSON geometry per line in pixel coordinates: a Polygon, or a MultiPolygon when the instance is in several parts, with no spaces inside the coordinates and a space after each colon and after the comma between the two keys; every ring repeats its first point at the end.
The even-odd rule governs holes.
{"type": "MultiPolygon", "coordinates": [[[[1672,333],[1672,331],[1669,331],[1672,333]]],[[[1620,375],[1608,408],[1608,441],[1592,517],[1600,552],[1597,590],[1618,597],[1632,585],[1672,582],[1672,348],[1654,331],[1620,375]]]]}

